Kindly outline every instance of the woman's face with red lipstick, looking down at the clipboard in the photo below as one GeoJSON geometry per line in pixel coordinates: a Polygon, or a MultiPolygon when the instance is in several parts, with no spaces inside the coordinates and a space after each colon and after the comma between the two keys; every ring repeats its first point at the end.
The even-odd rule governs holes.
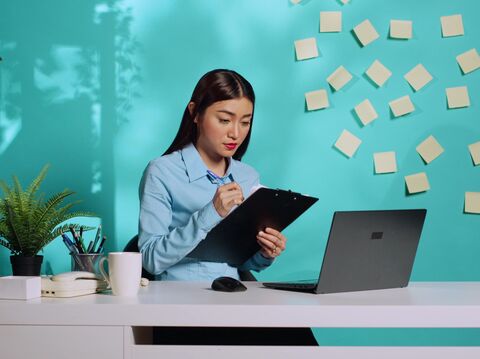
{"type": "MultiPolygon", "coordinates": [[[[191,103],[192,104],[192,103],[191,103]]],[[[252,102],[245,98],[218,101],[197,116],[197,150],[212,159],[231,157],[250,130],[252,102]]]]}

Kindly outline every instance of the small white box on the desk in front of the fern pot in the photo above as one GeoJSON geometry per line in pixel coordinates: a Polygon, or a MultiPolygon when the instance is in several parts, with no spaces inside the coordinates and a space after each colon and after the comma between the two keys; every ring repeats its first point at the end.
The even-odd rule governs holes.
{"type": "Polygon", "coordinates": [[[40,297],[40,277],[0,277],[0,299],[33,299],[40,297]]]}

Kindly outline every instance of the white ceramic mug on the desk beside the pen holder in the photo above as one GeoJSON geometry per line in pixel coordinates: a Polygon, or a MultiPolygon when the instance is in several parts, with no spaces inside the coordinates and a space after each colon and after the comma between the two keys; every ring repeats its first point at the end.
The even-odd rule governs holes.
{"type": "Polygon", "coordinates": [[[132,297],[137,295],[142,277],[142,255],[134,252],[112,252],[103,257],[99,269],[108,285],[112,288],[113,295],[132,297]],[[108,272],[103,267],[108,261],[108,272]]]}

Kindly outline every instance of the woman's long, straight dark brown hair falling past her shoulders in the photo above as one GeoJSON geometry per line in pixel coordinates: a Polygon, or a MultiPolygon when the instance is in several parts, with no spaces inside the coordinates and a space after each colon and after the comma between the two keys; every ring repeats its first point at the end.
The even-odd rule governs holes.
{"type": "MultiPolygon", "coordinates": [[[[195,86],[193,90],[190,102],[193,102],[195,106],[193,107],[192,114],[190,114],[187,105],[177,135],[163,155],[168,155],[169,153],[180,150],[190,142],[196,143],[197,125],[193,120],[197,115],[202,117],[207,107],[218,101],[242,97],[249,99],[252,102],[253,108],[255,108],[255,93],[253,92],[253,87],[243,76],[235,71],[224,69],[207,72],[198,81],[197,86],[195,86]]],[[[242,159],[247,151],[252,125],[253,111],[247,137],[245,137],[245,140],[233,155],[233,158],[238,161],[242,159]]]]}

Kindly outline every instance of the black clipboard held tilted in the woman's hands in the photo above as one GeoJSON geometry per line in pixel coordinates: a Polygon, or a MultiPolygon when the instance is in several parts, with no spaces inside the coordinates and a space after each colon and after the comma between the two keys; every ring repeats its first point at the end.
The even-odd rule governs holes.
{"type": "Polygon", "coordinates": [[[292,191],[260,188],[218,223],[187,257],[239,266],[260,246],[257,233],[284,230],[318,198],[292,191]]]}

